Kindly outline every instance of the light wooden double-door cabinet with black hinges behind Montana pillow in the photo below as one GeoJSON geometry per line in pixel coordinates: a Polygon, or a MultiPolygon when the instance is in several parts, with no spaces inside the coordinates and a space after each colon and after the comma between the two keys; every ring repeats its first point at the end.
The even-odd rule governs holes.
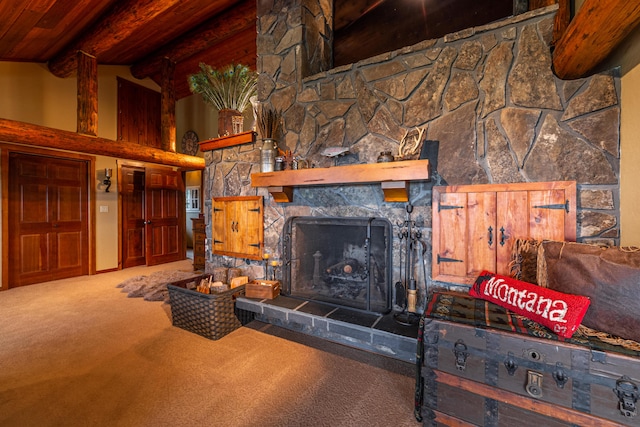
{"type": "Polygon", "coordinates": [[[509,274],[518,238],[575,241],[575,182],[434,187],[432,278],[509,274]]]}

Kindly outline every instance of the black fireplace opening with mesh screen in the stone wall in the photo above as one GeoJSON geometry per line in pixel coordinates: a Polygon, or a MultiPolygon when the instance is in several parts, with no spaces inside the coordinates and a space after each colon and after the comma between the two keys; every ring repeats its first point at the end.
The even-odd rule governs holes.
{"type": "Polygon", "coordinates": [[[391,233],[391,224],[382,218],[289,218],[283,235],[283,294],[388,313],[391,233]]]}

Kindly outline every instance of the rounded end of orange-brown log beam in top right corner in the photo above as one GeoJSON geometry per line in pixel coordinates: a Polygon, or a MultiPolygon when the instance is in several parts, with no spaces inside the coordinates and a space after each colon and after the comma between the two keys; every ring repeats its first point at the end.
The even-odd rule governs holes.
{"type": "Polygon", "coordinates": [[[553,51],[561,79],[588,75],[640,23],[640,2],[585,0],[553,51]]]}

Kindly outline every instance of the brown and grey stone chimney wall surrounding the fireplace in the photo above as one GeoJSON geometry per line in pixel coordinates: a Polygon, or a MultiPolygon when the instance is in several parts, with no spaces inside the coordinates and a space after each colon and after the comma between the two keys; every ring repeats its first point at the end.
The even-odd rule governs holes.
{"type": "MultiPolygon", "coordinates": [[[[284,112],[280,148],[316,167],[373,163],[396,154],[407,132],[439,141],[438,173],[448,184],[575,180],[578,240],[618,244],[620,80],[615,70],[563,81],[553,75],[549,42],[555,6],[427,40],[331,69],[331,1],[258,2],[259,100],[284,112]],[[344,147],[337,159],[322,155],[344,147]]],[[[383,217],[394,226],[406,205],[387,203],[379,185],[299,187],[277,204],[251,187],[261,142],[205,153],[205,199],[262,195],[265,250],[280,257],[291,216],[383,217]]],[[[411,219],[427,248],[430,277],[431,188],[412,183],[411,219]]],[[[205,205],[211,216],[211,203],[205,205]]],[[[210,223],[210,220],[208,221],[210,223]]],[[[207,233],[211,236],[208,224],[207,233]]],[[[403,243],[394,238],[394,282],[403,243]]],[[[260,263],[213,256],[207,269],[260,263]]],[[[420,285],[424,303],[425,283],[420,285]]]]}

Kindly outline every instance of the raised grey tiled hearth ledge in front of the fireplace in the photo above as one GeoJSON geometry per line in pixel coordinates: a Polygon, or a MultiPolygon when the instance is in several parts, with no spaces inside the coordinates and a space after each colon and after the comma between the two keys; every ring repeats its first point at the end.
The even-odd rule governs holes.
{"type": "Polygon", "coordinates": [[[256,313],[262,322],[406,362],[416,360],[418,325],[398,323],[393,313],[363,313],[283,295],[273,300],[240,297],[236,305],[256,313]]]}

